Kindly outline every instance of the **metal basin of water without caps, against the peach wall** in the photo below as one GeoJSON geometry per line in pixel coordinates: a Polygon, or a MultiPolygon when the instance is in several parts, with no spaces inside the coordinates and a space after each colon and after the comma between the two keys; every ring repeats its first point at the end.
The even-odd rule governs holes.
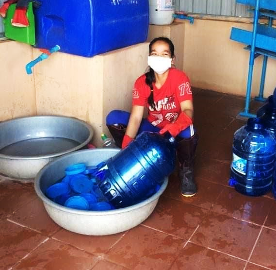
{"type": "Polygon", "coordinates": [[[20,179],[57,156],[80,150],[92,139],[84,121],[63,116],[35,116],[0,122],[0,173],[20,179]]]}

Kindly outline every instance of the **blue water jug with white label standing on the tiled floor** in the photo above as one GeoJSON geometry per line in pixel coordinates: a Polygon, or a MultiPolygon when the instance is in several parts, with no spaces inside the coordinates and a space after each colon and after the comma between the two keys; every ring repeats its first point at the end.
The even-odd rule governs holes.
{"type": "Polygon", "coordinates": [[[229,185],[245,195],[270,191],[274,173],[276,141],[260,118],[249,118],[233,138],[229,185]]]}

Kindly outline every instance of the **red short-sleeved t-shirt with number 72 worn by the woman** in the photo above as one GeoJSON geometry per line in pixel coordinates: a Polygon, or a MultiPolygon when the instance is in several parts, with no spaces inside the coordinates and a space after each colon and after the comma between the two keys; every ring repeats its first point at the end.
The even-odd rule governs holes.
{"type": "Polygon", "coordinates": [[[145,106],[148,109],[148,121],[159,128],[177,119],[181,113],[180,102],[192,100],[193,95],[189,78],[176,68],[170,68],[168,77],[160,89],[153,84],[153,99],[156,111],[147,103],[150,87],[146,84],[146,75],[139,77],[132,90],[132,105],[145,106]]]}

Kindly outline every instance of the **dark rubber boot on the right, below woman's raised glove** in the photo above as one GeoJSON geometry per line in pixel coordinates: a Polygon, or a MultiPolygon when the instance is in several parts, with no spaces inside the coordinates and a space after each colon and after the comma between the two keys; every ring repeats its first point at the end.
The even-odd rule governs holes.
{"type": "Polygon", "coordinates": [[[178,159],[179,159],[179,179],[181,194],[184,197],[192,197],[197,192],[194,179],[195,150],[197,146],[198,135],[191,138],[185,138],[179,141],[178,159]]]}

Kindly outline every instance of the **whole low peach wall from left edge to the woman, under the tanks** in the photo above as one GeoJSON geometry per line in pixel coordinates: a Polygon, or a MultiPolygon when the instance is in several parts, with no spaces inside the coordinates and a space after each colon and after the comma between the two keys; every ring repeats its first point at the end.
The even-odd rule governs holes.
{"type": "Polygon", "coordinates": [[[100,146],[100,134],[109,134],[109,111],[131,108],[134,81],[147,67],[148,43],[91,58],[57,52],[27,75],[26,64],[40,54],[23,43],[0,42],[0,121],[33,115],[75,117],[93,126],[93,143],[100,146]]]}

